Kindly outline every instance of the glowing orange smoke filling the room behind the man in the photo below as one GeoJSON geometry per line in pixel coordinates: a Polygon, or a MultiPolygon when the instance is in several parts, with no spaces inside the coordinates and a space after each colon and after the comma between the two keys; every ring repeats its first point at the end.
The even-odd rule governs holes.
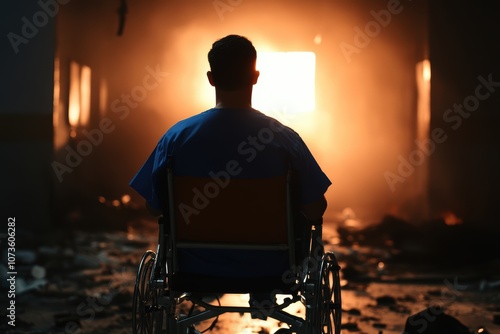
{"type": "MultiPolygon", "coordinates": [[[[411,8],[378,23],[379,30],[371,31],[369,42],[361,46],[357,34],[378,22],[372,11],[380,16],[386,1],[131,2],[121,37],[115,36],[118,18],[109,20],[116,14],[111,7],[92,12],[97,23],[82,23],[86,35],[79,44],[65,37],[70,46],[62,57],[77,55],[99,68],[93,73],[108,82],[109,101],[140,84],[147,66],[168,72],[126,120],[116,123],[103,145],[113,152],[113,158],[103,153],[103,159],[121,165],[116,183],[127,184],[175,122],[215,104],[206,79],[207,52],[216,39],[240,34],[258,51],[316,54],[316,110],[296,116],[289,125],[333,182],[326,194],[327,220],[346,207],[362,219],[379,219],[415,196],[415,180],[408,178],[392,192],[384,179],[385,171],[397,168],[398,156],[412,149],[416,136],[415,64],[421,41],[413,38],[419,25],[411,8]],[[227,6],[214,6],[221,2],[227,6]],[[347,44],[357,51],[347,54],[342,47],[347,44]]],[[[77,18],[77,12],[81,9],[69,19],[77,18]]],[[[71,26],[70,21],[63,26],[71,26]]]]}

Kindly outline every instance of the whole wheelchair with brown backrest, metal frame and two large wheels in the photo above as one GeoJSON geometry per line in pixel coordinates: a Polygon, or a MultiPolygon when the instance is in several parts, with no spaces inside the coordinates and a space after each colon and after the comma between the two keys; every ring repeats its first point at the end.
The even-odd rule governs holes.
{"type": "MultiPolygon", "coordinates": [[[[175,176],[170,165],[167,184],[168,204],[166,214],[158,219],[157,249],[144,253],[137,271],[134,334],[202,333],[229,312],[276,319],[287,326],[275,332],[280,334],[340,333],[340,267],[335,255],[324,250],[322,221],[304,221],[295,212],[290,171],[274,178],[223,180],[175,176]],[[286,270],[262,277],[214,274],[213,270],[193,273],[183,269],[187,261],[183,254],[192,250],[282,254],[286,270]],[[285,298],[248,307],[221,305],[219,300],[224,294],[247,293],[285,298]],[[295,303],[305,309],[301,316],[285,310],[295,303]],[[203,331],[196,327],[210,321],[212,325],[203,331]]],[[[232,270],[232,265],[224,268],[232,270]]]]}

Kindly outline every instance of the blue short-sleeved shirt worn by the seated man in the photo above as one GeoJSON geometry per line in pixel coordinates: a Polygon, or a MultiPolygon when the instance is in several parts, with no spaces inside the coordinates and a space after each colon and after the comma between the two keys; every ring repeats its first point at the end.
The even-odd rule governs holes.
{"type": "MultiPolygon", "coordinates": [[[[229,173],[234,178],[265,178],[282,175],[291,165],[300,204],[321,199],[331,184],[294,130],[252,108],[209,109],[178,122],[163,135],[130,182],[156,209],[163,209],[166,200],[168,156],[174,157],[174,174],[179,176],[229,173]]],[[[192,250],[178,254],[183,257],[181,270],[192,273],[279,276],[288,268],[283,252],[247,252],[192,250]],[[271,258],[274,260],[269,261],[271,258]],[[228,262],[232,262],[229,270],[228,262]],[[266,267],[265,263],[283,265],[266,267]]]]}

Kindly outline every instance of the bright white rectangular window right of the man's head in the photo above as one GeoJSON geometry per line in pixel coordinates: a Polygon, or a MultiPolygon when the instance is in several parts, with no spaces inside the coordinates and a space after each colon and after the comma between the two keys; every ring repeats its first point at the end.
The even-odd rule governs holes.
{"type": "Polygon", "coordinates": [[[268,114],[312,112],[315,105],[314,52],[259,52],[259,81],[252,105],[268,114]]]}

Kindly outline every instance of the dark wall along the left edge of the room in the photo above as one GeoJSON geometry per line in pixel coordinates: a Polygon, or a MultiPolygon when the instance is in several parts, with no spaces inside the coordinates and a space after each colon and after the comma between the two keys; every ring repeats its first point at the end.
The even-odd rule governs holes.
{"type": "Polygon", "coordinates": [[[0,219],[15,217],[18,235],[46,228],[52,217],[51,13],[25,0],[2,4],[0,14],[0,219]]]}

